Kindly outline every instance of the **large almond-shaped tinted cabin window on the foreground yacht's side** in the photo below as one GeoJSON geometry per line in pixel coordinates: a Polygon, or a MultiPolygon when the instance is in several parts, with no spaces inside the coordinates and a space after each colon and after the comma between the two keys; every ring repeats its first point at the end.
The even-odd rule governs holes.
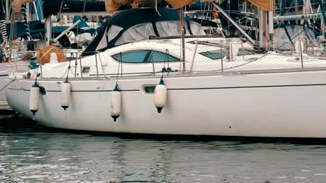
{"type": "Polygon", "coordinates": [[[118,53],[112,55],[112,58],[118,62],[125,63],[152,63],[152,62],[178,62],[179,59],[163,53],[161,51],[151,51],[151,50],[136,50],[127,51],[124,53],[118,53]],[[122,56],[122,60],[121,60],[122,56]]]}

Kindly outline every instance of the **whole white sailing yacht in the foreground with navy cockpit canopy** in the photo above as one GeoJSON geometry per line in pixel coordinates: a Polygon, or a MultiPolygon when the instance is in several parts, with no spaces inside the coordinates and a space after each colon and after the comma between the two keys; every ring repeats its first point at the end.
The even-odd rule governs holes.
{"type": "Polygon", "coordinates": [[[79,59],[15,72],[8,103],[52,128],[326,137],[325,58],[263,53],[179,15],[118,12],[79,59]]]}

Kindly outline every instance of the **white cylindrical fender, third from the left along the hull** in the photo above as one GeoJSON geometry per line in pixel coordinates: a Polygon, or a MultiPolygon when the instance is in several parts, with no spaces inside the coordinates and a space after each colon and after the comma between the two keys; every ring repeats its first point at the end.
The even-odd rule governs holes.
{"type": "Polygon", "coordinates": [[[111,117],[116,121],[121,114],[121,90],[116,87],[111,92],[111,117]]]}

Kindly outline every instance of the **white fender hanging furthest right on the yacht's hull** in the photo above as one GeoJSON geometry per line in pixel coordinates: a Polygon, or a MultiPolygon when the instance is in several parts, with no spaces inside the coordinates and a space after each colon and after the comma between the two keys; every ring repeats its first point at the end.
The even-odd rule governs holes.
{"type": "Polygon", "coordinates": [[[154,90],[154,103],[157,108],[157,112],[161,113],[163,107],[166,105],[167,88],[164,85],[163,77],[154,90]]]}

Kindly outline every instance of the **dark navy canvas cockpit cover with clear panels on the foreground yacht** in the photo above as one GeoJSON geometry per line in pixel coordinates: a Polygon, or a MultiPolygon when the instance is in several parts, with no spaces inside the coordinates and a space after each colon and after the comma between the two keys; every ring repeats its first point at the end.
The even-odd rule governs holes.
{"type": "MultiPolygon", "coordinates": [[[[204,35],[201,25],[185,18],[186,35],[204,35]]],[[[105,51],[114,46],[148,40],[152,36],[168,37],[180,35],[179,11],[170,8],[138,8],[123,10],[113,15],[102,25],[98,36],[86,48],[83,56],[95,51],[105,51]],[[159,14],[160,13],[160,14],[159,14]]]]}

